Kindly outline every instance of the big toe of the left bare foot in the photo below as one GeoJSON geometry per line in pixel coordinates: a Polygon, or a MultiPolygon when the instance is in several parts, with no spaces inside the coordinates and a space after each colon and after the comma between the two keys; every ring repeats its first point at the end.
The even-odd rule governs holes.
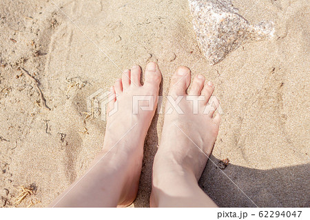
{"type": "Polygon", "coordinates": [[[145,86],[152,86],[159,89],[161,83],[161,70],[156,63],[148,63],[145,68],[145,86]]]}

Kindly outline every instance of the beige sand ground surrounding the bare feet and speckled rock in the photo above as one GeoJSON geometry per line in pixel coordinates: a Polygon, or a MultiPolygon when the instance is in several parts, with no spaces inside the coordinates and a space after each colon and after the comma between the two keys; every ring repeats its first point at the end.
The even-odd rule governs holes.
{"type": "MultiPolygon", "coordinates": [[[[199,183],[219,206],[310,205],[309,1],[233,1],[250,23],[273,21],[276,37],[215,66],[198,48],[186,0],[53,1],[0,2],[0,206],[16,206],[17,186],[30,185],[17,206],[48,206],[80,177],[105,132],[105,121],[84,120],[86,97],[148,61],[161,67],[163,95],[178,66],[216,85],[223,114],[210,159],[230,164],[209,161],[199,183]],[[50,110],[18,68],[37,79],[50,110]]],[[[156,114],[135,207],[149,206],[162,126],[156,114]]]]}

